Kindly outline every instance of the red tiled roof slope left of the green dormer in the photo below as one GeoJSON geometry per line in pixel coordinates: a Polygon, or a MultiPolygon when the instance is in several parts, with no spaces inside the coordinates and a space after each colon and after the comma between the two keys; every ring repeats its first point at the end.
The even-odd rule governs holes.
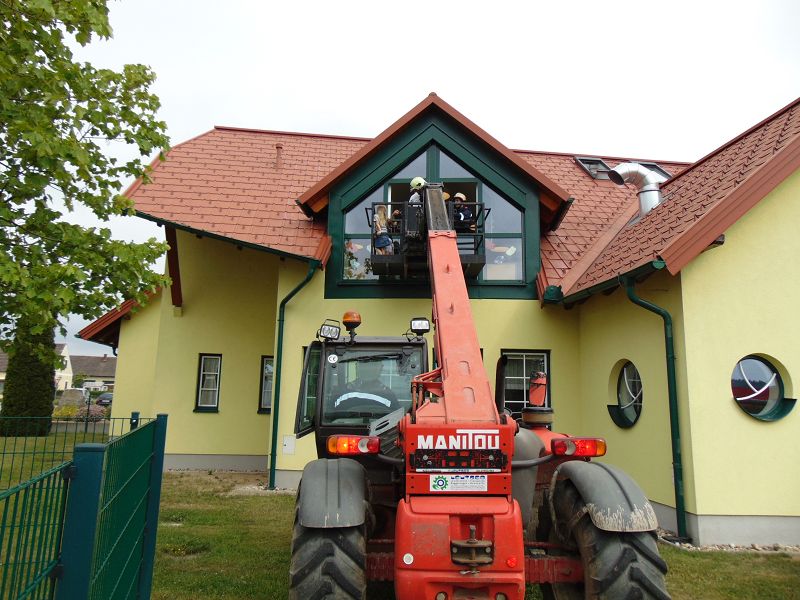
{"type": "Polygon", "coordinates": [[[140,216],[303,258],[325,258],[325,224],[295,199],[367,140],[215,127],[172,148],[128,190],[140,216]],[[280,150],[280,153],[278,152],[280,150]]]}

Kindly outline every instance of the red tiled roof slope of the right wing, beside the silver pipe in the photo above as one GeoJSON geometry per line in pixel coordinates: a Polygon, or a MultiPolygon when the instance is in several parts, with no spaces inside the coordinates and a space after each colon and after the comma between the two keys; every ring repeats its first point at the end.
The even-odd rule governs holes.
{"type": "Polygon", "coordinates": [[[664,201],[623,227],[565,294],[659,257],[677,273],[798,168],[800,99],[666,182],[664,201]]]}

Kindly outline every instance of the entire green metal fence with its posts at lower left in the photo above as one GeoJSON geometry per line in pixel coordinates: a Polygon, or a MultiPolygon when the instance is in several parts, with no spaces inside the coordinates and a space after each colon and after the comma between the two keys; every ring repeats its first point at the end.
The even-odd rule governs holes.
{"type": "Polygon", "coordinates": [[[26,419],[0,422],[0,600],[149,599],[166,415],[26,419]]]}

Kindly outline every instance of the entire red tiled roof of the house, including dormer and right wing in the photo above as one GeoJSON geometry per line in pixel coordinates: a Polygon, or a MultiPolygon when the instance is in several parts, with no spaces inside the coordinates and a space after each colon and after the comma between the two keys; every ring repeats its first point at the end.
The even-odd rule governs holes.
{"type": "MultiPolygon", "coordinates": [[[[527,165],[529,174],[544,182],[546,192],[557,194],[558,201],[567,195],[574,199],[558,229],[542,238],[539,277],[540,290],[561,285],[569,295],[657,257],[667,260],[671,272],[679,271],[796,168],[798,103],[691,168],[649,161],[658,162],[673,178],[663,186],[665,201],[633,225],[629,222],[638,202],[631,187],[592,179],[570,154],[504,149],[435,95],[374,140],[216,127],[173,148],[166,162],[155,165],[153,182],[137,182],[129,195],[147,218],[324,262],[330,252],[325,223],[306,217],[295,200],[309,211],[338,177],[433,107],[486,137],[515,163],[527,165]]],[[[610,167],[639,160],[598,158],[610,167]]]]}

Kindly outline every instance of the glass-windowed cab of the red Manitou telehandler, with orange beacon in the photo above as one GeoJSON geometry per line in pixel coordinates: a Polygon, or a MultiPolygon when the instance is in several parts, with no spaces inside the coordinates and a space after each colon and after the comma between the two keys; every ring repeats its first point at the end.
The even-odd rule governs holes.
{"type": "Polygon", "coordinates": [[[343,321],[349,336],[340,334],[338,321],[325,321],[303,365],[295,433],[314,431],[320,457],[342,454],[341,448],[329,449],[332,436],[378,437],[395,430],[411,407],[411,380],[428,371],[422,337],[430,328],[427,319],[414,319],[416,332],[398,337],[356,336],[357,313],[347,313],[343,321]]]}

